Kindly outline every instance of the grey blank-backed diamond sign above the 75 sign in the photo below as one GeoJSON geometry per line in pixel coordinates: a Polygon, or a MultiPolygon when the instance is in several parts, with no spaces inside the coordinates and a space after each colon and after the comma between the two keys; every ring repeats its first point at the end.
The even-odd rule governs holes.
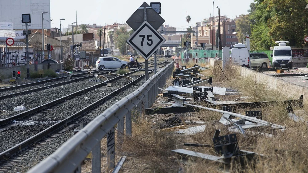
{"type": "Polygon", "coordinates": [[[164,24],[165,20],[162,18],[154,9],[152,9],[148,3],[144,2],[136,11],[132,14],[131,17],[128,18],[126,24],[130,26],[134,31],[138,29],[144,21],[144,9],[143,7],[149,7],[146,9],[147,12],[147,21],[155,28],[155,30],[159,29],[162,24],[164,24]]]}

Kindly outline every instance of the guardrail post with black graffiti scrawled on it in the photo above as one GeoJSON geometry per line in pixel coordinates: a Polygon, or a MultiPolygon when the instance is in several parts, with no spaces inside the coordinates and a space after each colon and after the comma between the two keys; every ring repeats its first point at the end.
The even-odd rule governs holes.
{"type": "Polygon", "coordinates": [[[108,170],[115,168],[115,127],[107,133],[107,163],[108,170]]]}

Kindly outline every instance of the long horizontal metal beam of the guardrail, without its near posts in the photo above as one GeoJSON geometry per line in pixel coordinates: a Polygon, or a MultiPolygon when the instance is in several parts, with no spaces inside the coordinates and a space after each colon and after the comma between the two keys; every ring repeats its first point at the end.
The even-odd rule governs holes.
{"type": "MultiPolygon", "coordinates": [[[[115,124],[123,120],[125,115],[131,114],[132,108],[141,108],[138,110],[141,113],[144,111],[144,103],[147,105],[148,102],[148,106],[150,106],[154,102],[158,95],[156,88],[165,85],[166,80],[172,75],[173,67],[174,61],[150,77],[136,91],[98,115],[54,153],[31,168],[28,173],[74,172],[88,153],[100,144],[101,139],[108,132],[112,132],[111,129],[114,128],[115,124]]],[[[112,158],[114,158],[114,153],[110,151],[112,158]]],[[[110,167],[114,165],[114,160],[107,161],[110,163],[110,167]]],[[[100,162],[100,155],[95,162],[100,162]]]]}

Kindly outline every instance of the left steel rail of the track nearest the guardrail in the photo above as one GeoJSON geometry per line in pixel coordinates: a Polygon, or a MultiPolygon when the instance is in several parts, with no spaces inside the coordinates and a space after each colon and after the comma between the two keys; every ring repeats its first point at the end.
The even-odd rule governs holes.
{"type": "MultiPolygon", "coordinates": [[[[126,74],[132,74],[132,73],[135,73],[135,72],[136,72],[136,71],[133,71],[133,72],[130,72],[130,73],[126,73],[126,74]]],[[[108,73],[109,73],[109,72],[108,72],[108,73]]],[[[102,82],[102,83],[93,85],[93,86],[91,86],[91,87],[88,87],[88,88],[79,90],[79,91],[77,91],[77,92],[74,92],[74,93],[71,93],[71,94],[69,94],[69,95],[63,96],[63,97],[61,97],[61,98],[59,98],[59,99],[53,100],[53,101],[48,102],[48,103],[46,103],[46,104],[40,105],[40,106],[35,107],[35,108],[32,108],[32,109],[30,109],[30,110],[27,110],[27,111],[25,111],[25,112],[22,112],[22,113],[19,113],[19,114],[14,115],[14,116],[10,116],[10,117],[8,117],[8,118],[2,119],[2,120],[0,120],[0,126],[5,125],[5,124],[8,124],[8,123],[12,122],[13,120],[17,120],[17,119],[20,119],[20,118],[24,118],[24,117],[29,116],[29,115],[31,115],[31,114],[34,114],[34,113],[36,113],[36,112],[42,111],[42,110],[44,110],[44,109],[46,109],[46,108],[49,108],[49,107],[51,107],[51,106],[53,106],[53,105],[55,105],[55,104],[59,104],[59,103],[65,101],[65,100],[68,100],[69,98],[78,96],[78,95],[80,95],[80,94],[82,94],[82,93],[84,93],[84,92],[87,92],[87,91],[93,90],[93,89],[95,89],[95,88],[101,87],[101,86],[107,84],[108,82],[112,82],[112,81],[115,81],[115,80],[119,79],[120,77],[122,77],[122,76],[117,76],[117,77],[115,77],[115,78],[113,78],[113,79],[110,79],[110,80],[104,81],[104,82],[102,82]]]]}

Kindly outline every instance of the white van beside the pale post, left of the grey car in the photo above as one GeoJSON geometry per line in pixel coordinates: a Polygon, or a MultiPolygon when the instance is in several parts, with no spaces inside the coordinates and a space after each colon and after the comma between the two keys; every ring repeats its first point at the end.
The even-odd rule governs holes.
{"type": "Polygon", "coordinates": [[[238,43],[231,49],[230,61],[234,64],[249,67],[249,54],[245,44],[238,43]]]}

